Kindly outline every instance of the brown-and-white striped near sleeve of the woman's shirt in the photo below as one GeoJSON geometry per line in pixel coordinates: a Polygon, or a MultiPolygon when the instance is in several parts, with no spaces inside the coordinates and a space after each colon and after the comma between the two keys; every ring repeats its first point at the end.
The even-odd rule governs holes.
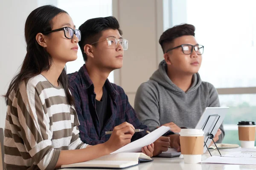
{"type": "Polygon", "coordinates": [[[16,94],[20,136],[32,161],[41,170],[52,170],[57,164],[60,150],[52,147],[49,116],[43,110],[35,86],[20,84],[16,94]]]}

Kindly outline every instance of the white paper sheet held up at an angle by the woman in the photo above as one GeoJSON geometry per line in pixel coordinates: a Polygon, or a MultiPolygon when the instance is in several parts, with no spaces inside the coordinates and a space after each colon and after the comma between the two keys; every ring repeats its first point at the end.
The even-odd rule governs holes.
{"type": "MultiPolygon", "coordinates": [[[[144,146],[147,146],[153,142],[155,142],[160,136],[162,136],[164,133],[166,133],[168,130],[170,130],[170,127],[161,126],[154,130],[151,133],[148,133],[143,138],[140,138],[134,142],[131,142],[124,147],[121,147],[120,149],[116,150],[112,153],[119,153],[119,152],[141,152],[141,148],[144,146]]],[[[138,132],[140,133],[140,132],[138,132]]]]}

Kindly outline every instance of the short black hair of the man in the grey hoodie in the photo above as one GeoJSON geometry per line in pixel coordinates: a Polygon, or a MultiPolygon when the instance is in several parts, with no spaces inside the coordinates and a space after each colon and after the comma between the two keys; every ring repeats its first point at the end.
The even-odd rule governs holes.
{"type": "Polygon", "coordinates": [[[165,53],[166,43],[173,42],[175,38],[182,37],[184,35],[192,35],[195,37],[195,26],[191,24],[181,24],[164,31],[159,39],[163,53],[165,53]]]}

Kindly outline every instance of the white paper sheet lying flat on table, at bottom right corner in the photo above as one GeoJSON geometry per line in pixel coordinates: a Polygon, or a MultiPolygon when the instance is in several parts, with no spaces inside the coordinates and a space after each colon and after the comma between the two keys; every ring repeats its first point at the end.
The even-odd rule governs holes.
{"type": "Polygon", "coordinates": [[[211,156],[202,163],[217,163],[217,164],[252,164],[256,165],[255,158],[234,158],[224,156],[211,156]]]}

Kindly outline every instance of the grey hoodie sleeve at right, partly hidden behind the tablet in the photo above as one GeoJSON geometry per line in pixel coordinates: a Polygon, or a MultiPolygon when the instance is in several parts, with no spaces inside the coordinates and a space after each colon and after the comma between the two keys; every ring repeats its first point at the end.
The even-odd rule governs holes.
{"type": "MultiPolygon", "coordinates": [[[[207,106],[207,107],[220,107],[218,92],[212,84],[210,84],[210,85],[211,85],[210,90],[209,90],[210,102],[209,102],[209,106],[207,106]]],[[[221,143],[225,136],[223,123],[221,124],[220,129],[221,129],[222,133],[219,136],[219,140],[216,143],[221,143]]]]}

